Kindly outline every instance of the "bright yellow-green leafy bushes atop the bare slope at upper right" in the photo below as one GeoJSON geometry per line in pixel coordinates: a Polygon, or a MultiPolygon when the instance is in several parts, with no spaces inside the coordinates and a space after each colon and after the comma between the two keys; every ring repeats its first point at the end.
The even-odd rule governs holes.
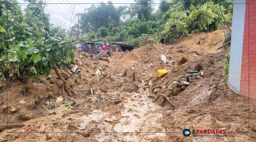
{"type": "MultiPolygon", "coordinates": [[[[225,21],[220,9],[212,2],[205,3],[199,9],[190,7],[190,11],[183,11],[183,6],[176,4],[169,10],[169,18],[162,35],[169,39],[176,39],[182,35],[199,31],[218,30],[225,27],[225,21]]],[[[221,7],[225,13],[224,7],[221,7]]],[[[224,14],[226,20],[230,20],[229,14],[224,14]]]]}

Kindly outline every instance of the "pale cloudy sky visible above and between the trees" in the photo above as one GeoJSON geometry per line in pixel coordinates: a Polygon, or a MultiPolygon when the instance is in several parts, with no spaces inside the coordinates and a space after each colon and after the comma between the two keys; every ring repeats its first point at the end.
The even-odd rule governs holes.
{"type": "MultiPolygon", "coordinates": [[[[65,23],[65,28],[69,28],[69,24],[71,21],[71,26],[74,23],[77,23],[77,17],[71,19],[72,15],[72,7],[75,5],[74,14],[78,12],[84,11],[85,8],[90,7],[92,4],[64,4],[64,3],[100,3],[100,2],[108,2],[109,0],[47,0],[47,3],[59,3],[59,4],[48,4],[46,7],[46,13],[51,15],[50,22],[57,26],[60,26],[61,23],[65,23]]],[[[18,0],[19,3],[25,3],[23,0],[18,0]]],[[[112,0],[113,3],[133,3],[133,0],[112,0]]],[[[160,3],[160,0],[154,0],[154,3],[160,3]]],[[[114,4],[114,6],[123,6],[124,4],[114,4]]],[[[129,6],[129,5],[126,5],[129,6]]],[[[154,5],[154,9],[156,10],[159,5],[154,5]]],[[[26,5],[22,5],[22,9],[24,9],[26,5]]]]}

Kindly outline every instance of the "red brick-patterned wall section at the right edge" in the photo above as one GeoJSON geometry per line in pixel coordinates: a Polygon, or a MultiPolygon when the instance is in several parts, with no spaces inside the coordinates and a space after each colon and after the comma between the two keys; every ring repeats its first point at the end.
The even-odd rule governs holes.
{"type": "Polygon", "coordinates": [[[240,93],[256,98],[256,1],[246,0],[240,93]]]}

